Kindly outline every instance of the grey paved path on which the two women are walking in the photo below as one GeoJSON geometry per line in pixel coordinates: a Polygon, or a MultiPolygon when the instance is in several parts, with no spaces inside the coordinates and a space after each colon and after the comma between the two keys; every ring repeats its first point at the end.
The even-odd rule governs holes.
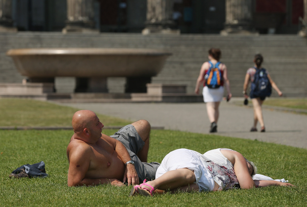
{"type": "MultiPolygon", "coordinates": [[[[242,98],[241,98],[242,99],[242,98]]],[[[276,108],[264,108],[266,132],[249,132],[253,123],[251,106],[234,100],[220,105],[217,135],[284,144],[307,149],[307,115],[276,108]]],[[[243,102],[243,100],[242,100],[243,102]]],[[[146,119],[152,126],[197,133],[209,132],[204,103],[61,103],[78,109],[137,121],[146,119]]],[[[103,120],[101,120],[103,123],[103,120]]],[[[258,130],[260,126],[258,125],[258,130]]]]}

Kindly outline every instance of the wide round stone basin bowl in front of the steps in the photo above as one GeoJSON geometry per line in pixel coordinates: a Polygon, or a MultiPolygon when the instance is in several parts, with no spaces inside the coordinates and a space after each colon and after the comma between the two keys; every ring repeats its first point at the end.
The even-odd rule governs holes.
{"type": "Polygon", "coordinates": [[[21,75],[40,77],[152,77],[172,55],[139,48],[25,48],[10,49],[21,75]]]}

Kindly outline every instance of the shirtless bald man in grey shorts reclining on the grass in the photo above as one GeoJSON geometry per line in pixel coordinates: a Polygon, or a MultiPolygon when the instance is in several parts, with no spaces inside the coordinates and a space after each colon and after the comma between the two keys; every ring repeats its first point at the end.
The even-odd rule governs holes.
{"type": "Polygon", "coordinates": [[[103,183],[121,186],[153,180],[160,163],[147,163],[150,124],[139,120],[112,136],[102,132],[103,124],[90,110],[72,117],[72,135],[67,147],[68,186],[103,183]]]}

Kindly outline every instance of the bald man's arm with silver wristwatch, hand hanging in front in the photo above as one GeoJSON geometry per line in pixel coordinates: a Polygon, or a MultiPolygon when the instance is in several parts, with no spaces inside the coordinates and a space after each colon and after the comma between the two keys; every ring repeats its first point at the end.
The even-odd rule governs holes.
{"type": "MultiPolygon", "coordinates": [[[[129,152],[127,151],[125,146],[119,140],[116,140],[116,139],[114,139],[110,136],[107,136],[105,134],[102,134],[102,137],[103,137],[104,140],[106,140],[107,142],[109,142],[113,146],[114,150],[119,155],[119,157],[120,157],[120,159],[122,160],[123,163],[126,163],[129,160],[131,160],[129,152]]],[[[134,167],[133,164],[126,165],[126,171],[125,171],[125,174],[124,174],[123,182],[125,182],[125,181],[128,182],[128,185],[139,184],[138,173],[135,170],[135,167],[134,167]]]]}

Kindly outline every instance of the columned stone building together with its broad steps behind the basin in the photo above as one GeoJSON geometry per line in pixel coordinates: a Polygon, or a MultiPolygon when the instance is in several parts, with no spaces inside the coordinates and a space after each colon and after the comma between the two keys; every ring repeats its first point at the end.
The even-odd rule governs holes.
{"type": "Polygon", "coordinates": [[[217,47],[234,96],[260,52],[285,96],[306,97],[307,49],[297,36],[306,35],[306,14],[307,0],[0,0],[0,83],[25,78],[6,55],[12,48],[157,48],[173,56],[152,83],[193,93],[208,49],[217,47]]]}

